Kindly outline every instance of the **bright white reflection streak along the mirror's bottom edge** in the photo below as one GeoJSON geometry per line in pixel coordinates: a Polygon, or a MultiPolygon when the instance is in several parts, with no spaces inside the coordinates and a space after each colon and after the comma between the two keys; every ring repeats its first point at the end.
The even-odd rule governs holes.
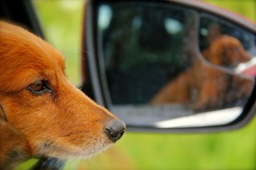
{"type": "Polygon", "coordinates": [[[241,107],[228,108],[225,110],[209,111],[191,115],[189,117],[174,118],[155,122],[154,126],[159,128],[173,127],[202,127],[211,125],[224,125],[235,120],[242,113],[241,107]]]}

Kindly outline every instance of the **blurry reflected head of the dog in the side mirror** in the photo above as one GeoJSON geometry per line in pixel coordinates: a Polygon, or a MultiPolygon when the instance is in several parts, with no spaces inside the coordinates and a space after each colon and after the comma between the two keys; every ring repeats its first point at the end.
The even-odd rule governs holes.
{"type": "Polygon", "coordinates": [[[209,47],[207,59],[218,66],[236,67],[241,62],[250,60],[243,45],[232,36],[221,36],[209,47]]]}

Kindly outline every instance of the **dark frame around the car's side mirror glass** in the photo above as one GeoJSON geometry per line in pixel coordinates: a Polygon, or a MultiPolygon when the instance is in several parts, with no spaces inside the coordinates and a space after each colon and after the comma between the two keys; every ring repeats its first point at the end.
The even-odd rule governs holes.
{"type": "MultiPolygon", "coordinates": [[[[83,56],[84,62],[82,63],[83,67],[87,68],[86,76],[90,81],[89,85],[83,85],[83,87],[91,87],[94,92],[95,98],[93,98],[97,103],[104,105],[108,108],[106,101],[104,101],[104,93],[102,92],[102,80],[100,80],[100,69],[99,69],[99,59],[97,52],[97,13],[96,7],[97,4],[101,2],[118,2],[120,1],[101,1],[101,0],[88,0],[86,2],[86,6],[84,9],[84,25],[83,25],[83,46],[82,50],[85,50],[90,55],[83,56]],[[86,29],[84,29],[86,28],[86,29]]],[[[129,1],[131,2],[131,1],[129,1]]],[[[135,1],[138,2],[138,1],[135,1]]],[[[145,2],[145,1],[144,1],[145,2]]],[[[146,1],[147,2],[147,1],[146,1]]],[[[151,1],[152,2],[152,1],[151,1]]],[[[236,25],[243,27],[244,29],[253,32],[256,34],[256,24],[248,22],[244,20],[244,18],[237,17],[232,13],[227,13],[225,10],[221,10],[209,4],[205,4],[198,1],[156,1],[157,3],[168,3],[173,4],[175,6],[185,6],[186,8],[193,8],[199,12],[207,12],[211,15],[215,15],[220,18],[224,18],[230,22],[233,22],[236,25]]],[[[87,81],[88,82],[88,81],[87,81]]],[[[255,78],[256,82],[256,78],[255,78]]],[[[172,129],[157,129],[155,127],[138,127],[127,125],[128,131],[136,131],[136,132],[164,132],[164,133],[177,133],[177,132],[216,132],[216,131],[228,131],[233,129],[238,129],[248,124],[250,120],[256,115],[256,83],[253,87],[252,94],[244,107],[241,115],[236,118],[233,122],[226,125],[218,125],[218,126],[209,126],[209,127],[189,127],[189,128],[172,128],[172,129]]]]}

